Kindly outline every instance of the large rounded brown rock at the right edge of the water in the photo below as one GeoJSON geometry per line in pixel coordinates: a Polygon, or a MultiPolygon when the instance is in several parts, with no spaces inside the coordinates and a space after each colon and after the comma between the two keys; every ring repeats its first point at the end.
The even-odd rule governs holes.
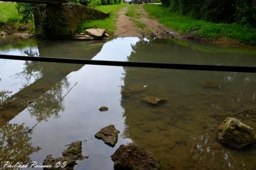
{"type": "Polygon", "coordinates": [[[236,149],[250,147],[256,143],[252,128],[232,117],[226,118],[219,125],[218,137],[222,143],[236,149]]]}

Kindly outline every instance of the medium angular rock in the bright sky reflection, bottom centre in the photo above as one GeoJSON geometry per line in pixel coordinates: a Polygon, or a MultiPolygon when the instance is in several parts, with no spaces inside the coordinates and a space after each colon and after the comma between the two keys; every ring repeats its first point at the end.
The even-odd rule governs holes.
{"type": "Polygon", "coordinates": [[[118,130],[114,125],[106,126],[95,134],[95,138],[102,139],[108,146],[114,147],[118,140],[118,130]]]}

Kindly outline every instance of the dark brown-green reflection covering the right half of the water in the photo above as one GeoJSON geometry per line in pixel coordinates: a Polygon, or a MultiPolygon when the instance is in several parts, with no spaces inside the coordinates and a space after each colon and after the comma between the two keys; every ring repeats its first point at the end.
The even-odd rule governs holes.
{"type": "MultiPolygon", "coordinates": [[[[168,48],[162,42],[139,41],[133,46],[129,61],[256,63],[255,55],[251,54],[248,58],[245,55],[246,60],[237,54],[223,56],[180,47],[171,41],[165,43],[168,48]],[[235,60],[231,60],[232,56],[235,60]]],[[[153,152],[162,169],[253,169],[250,160],[255,158],[256,149],[236,151],[223,147],[215,131],[227,116],[237,117],[256,128],[254,111],[236,114],[244,108],[254,108],[254,79],[255,75],[250,73],[126,68],[121,100],[127,125],[124,134],[153,152]],[[216,87],[204,86],[205,81],[216,87]],[[145,96],[167,102],[150,106],[143,103],[145,96]]]]}

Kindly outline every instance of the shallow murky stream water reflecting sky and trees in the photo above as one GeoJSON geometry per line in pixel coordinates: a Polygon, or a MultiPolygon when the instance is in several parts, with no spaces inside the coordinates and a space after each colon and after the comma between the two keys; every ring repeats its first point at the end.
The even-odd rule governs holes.
{"type": "MultiPolygon", "coordinates": [[[[0,54],[256,64],[254,47],[219,47],[180,40],[0,42],[0,54]]],[[[252,161],[255,147],[229,149],[219,143],[215,132],[227,116],[256,129],[255,112],[234,116],[243,109],[255,108],[255,74],[0,60],[0,79],[1,103],[22,103],[0,110],[0,164],[42,164],[47,155],[59,157],[65,145],[82,140],[83,155],[89,158],[75,169],[113,169],[110,156],[119,145],[131,141],[152,152],[162,169],[256,168],[252,161]],[[205,88],[202,81],[212,81],[221,88],[205,88]],[[153,107],[141,101],[145,96],[160,97],[166,103],[153,107]],[[30,101],[34,102],[23,105],[30,101]],[[101,106],[108,106],[109,111],[100,112],[101,106]],[[121,131],[114,148],[94,138],[109,124],[121,131]],[[26,127],[32,131],[21,135],[26,127]]]]}

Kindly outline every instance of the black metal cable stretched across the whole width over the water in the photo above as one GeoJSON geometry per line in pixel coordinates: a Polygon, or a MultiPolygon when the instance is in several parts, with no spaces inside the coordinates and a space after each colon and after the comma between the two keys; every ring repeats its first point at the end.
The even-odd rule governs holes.
{"type": "Polygon", "coordinates": [[[121,61],[81,60],[81,59],[74,59],[74,58],[28,57],[28,56],[16,56],[16,55],[0,55],[0,58],[9,59],[9,60],[69,63],[69,64],[89,64],[89,65],[107,65],[107,66],[125,66],[125,67],[145,67],[145,68],[156,68],[156,69],[256,73],[256,67],[247,67],[247,66],[121,62],[121,61]]]}

